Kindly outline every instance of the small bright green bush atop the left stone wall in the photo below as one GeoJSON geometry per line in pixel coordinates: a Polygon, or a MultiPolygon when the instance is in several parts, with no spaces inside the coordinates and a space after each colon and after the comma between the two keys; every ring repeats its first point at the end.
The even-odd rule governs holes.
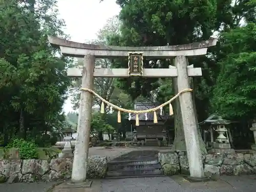
{"type": "Polygon", "coordinates": [[[24,139],[13,139],[6,148],[17,148],[21,159],[37,159],[37,145],[34,141],[24,139]]]}

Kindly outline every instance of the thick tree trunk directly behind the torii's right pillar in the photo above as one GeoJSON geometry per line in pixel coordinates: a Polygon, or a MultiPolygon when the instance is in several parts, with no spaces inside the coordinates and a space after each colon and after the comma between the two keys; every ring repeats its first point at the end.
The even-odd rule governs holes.
{"type": "MultiPolygon", "coordinates": [[[[173,90],[175,94],[178,93],[177,77],[173,78],[173,90]]],[[[195,105],[195,93],[193,94],[193,103],[194,103],[193,107],[195,110],[195,114],[197,116],[196,105],[195,105]]],[[[186,142],[185,142],[185,136],[184,136],[184,130],[183,130],[183,124],[182,124],[182,115],[181,115],[179,98],[177,98],[173,104],[174,104],[174,115],[175,115],[175,118],[174,118],[175,138],[174,138],[172,151],[186,151],[186,142]]],[[[207,154],[205,143],[203,142],[201,132],[199,130],[197,117],[196,117],[196,121],[197,121],[198,139],[199,139],[201,153],[207,154]]]]}

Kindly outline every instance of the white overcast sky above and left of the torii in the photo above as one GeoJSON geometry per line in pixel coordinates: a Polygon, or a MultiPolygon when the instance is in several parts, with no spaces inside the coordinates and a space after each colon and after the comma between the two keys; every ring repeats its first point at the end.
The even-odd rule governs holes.
{"type": "MultiPolygon", "coordinates": [[[[63,29],[71,36],[72,41],[85,42],[96,38],[96,33],[106,24],[106,20],[119,14],[116,0],[58,0],[59,17],[66,22],[63,29]]],[[[63,110],[72,110],[70,99],[63,110]]]]}

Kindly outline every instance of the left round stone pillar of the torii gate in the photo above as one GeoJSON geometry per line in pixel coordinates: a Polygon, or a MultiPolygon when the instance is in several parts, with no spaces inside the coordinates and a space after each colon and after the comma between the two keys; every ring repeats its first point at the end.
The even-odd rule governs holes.
{"type": "MultiPolygon", "coordinates": [[[[93,55],[84,56],[82,88],[93,89],[93,70],[95,58],[93,55]]],[[[86,180],[87,160],[89,153],[90,129],[92,120],[92,93],[81,91],[80,107],[77,125],[77,137],[74,152],[71,181],[81,183],[86,180]]]]}

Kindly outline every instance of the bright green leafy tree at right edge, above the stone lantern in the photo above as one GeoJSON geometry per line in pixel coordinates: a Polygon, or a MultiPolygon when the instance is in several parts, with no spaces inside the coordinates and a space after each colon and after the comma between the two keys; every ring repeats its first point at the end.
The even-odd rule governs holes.
{"type": "Polygon", "coordinates": [[[251,119],[256,115],[256,24],[248,23],[223,33],[221,72],[212,103],[228,118],[251,119]]]}

